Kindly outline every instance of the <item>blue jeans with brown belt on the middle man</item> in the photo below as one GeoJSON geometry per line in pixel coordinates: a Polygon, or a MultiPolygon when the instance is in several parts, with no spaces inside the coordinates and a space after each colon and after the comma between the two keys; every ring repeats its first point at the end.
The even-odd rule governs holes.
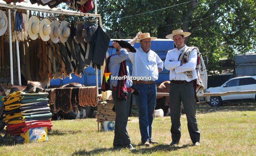
{"type": "Polygon", "coordinates": [[[141,142],[144,142],[152,139],[152,122],[157,99],[157,86],[156,83],[137,83],[136,87],[140,91],[140,95],[136,96],[136,103],[139,112],[141,142]]]}

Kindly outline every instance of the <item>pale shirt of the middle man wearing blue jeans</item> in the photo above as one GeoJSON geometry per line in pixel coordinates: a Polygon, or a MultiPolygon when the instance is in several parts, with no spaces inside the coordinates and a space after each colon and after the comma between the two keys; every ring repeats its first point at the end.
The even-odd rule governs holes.
{"type": "Polygon", "coordinates": [[[151,77],[152,81],[156,81],[158,79],[158,68],[163,70],[163,61],[152,50],[146,53],[141,47],[135,49],[135,53],[129,52],[129,58],[132,63],[132,76],[151,77]]]}

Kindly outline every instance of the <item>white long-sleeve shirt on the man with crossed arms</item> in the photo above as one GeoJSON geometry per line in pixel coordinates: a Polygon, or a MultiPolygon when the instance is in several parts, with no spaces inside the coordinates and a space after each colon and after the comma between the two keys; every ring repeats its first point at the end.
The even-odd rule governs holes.
{"type": "Polygon", "coordinates": [[[164,67],[170,71],[170,80],[186,80],[189,82],[197,78],[195,70],[197,62],[197,51],[195,49],[191,52],[191,55],[188,58],[188,62],[180,66],[181,61],[178,61],[179,55],[181,51],[185,49],[185,47],[186,45],[179,50],[177,48],[169,50],[166,55],[164,67]],[[189,78],[187,75],[185,75],[183,73],[184,71],[192,71],[192,78],[189,78]]]}

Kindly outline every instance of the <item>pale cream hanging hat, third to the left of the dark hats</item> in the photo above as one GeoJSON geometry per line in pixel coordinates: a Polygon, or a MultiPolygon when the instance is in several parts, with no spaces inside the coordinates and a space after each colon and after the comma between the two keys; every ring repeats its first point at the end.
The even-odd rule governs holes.
{"type": "Polygon", "coordinates": [[[40,37],[43,41],[48,41],[51,34],[51,22],[47,18],[43,19],[40,23],[40,37]]]}

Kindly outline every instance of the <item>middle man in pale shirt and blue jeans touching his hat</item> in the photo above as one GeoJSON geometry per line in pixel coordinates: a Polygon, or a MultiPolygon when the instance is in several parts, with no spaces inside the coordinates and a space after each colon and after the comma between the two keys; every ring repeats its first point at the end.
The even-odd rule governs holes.
{"type": "Polygon", "coordinates": [[[136,53],[129,52],[129,58],[132,63],[132,76],[141,77],[135,80],[134,85],[140,91],[136,96],[136,103],[139,112],[139,125],[141,132],[141,142],[144,146],[157,144],[152,140],[152,122],[155,110],[157,90],[155,81],[158,79],[158,72],[163,70],[163,61],[152,50],[150,50],[151,41],[157,37],[150,37],[149,33],[139,32],[134,39],[130,41],[131,45],[135,42],[140,43],[136,53]]]}

